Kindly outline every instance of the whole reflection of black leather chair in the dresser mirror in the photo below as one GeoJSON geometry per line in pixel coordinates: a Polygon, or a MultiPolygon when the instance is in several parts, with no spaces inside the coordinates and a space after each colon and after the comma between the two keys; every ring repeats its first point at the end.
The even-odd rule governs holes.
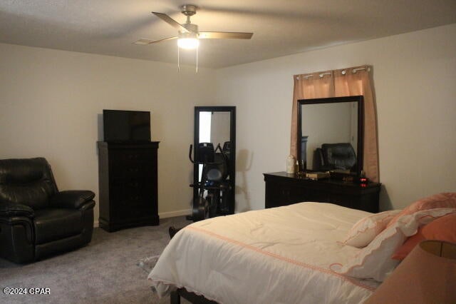
{"type": "Polygon", "coordinates": [[[351,143],[323,143],[316,148],[314,162],[318,171],[355,171],[356,153],[351,143]]]}

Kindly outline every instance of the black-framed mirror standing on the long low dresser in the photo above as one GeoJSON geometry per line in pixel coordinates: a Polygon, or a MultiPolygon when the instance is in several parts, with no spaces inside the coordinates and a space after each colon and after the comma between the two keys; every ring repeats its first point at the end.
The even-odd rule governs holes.
{"type": "Polygon", "coordinates": [[[363,170],[363,96],[298,101],[298,159],[310,171],[363,170]]]}

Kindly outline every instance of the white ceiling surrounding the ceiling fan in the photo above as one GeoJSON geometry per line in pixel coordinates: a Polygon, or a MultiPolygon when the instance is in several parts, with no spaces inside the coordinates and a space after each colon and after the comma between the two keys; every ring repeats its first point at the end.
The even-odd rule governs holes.
{"type": "MultiPolygon", "coordinates": [[[[199,31],[254,33],[202,40],[199,66],[210,68],[456,23],[455,0],[1,0],[0,42],[175,63],[175,40],[133,42],[176,36],[151,11],[184,23],[183,4],[199,6],[199,31]]],[[[194,62],[195,51],[183,53],[194,62]]]]}

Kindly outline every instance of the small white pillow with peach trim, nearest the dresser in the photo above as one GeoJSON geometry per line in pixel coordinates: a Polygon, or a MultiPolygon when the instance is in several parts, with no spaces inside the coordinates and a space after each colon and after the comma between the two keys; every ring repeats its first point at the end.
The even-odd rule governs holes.
{"type": "Polygon", "coordinates": [[[366,247],[398,213],[400,213],[400,210],[385,211],[361,218],[348,231],[342,243],[357,248],[366,247]]]}

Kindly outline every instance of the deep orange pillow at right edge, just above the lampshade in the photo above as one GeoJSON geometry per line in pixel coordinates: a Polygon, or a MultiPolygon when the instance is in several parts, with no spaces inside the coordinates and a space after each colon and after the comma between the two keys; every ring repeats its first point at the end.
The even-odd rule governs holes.
{"type": "Polygon", "coordinates": [[[446,240],[450,243],[456,243],[456,213],[442,216],[418,228],[418,232],[410,236],[391,258],[403,260],[422,240],[446,240]]]}

